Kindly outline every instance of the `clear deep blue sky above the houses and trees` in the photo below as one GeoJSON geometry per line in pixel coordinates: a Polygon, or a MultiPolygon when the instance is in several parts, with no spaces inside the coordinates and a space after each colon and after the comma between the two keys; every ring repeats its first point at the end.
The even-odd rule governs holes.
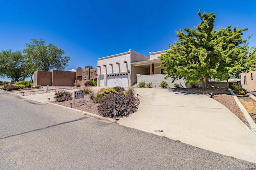
{"type": "Polygon", "coordinates": [[[0,0],[0,50],[43,38],[70,56],[66,70],[129,49],[149,56],[169,49],[177,30],[198,25],[199,8],[216,14],[215,29],[248,28],[244,39],[254,34],[248,43],[256,46],[255,0],[0,0]]]}

